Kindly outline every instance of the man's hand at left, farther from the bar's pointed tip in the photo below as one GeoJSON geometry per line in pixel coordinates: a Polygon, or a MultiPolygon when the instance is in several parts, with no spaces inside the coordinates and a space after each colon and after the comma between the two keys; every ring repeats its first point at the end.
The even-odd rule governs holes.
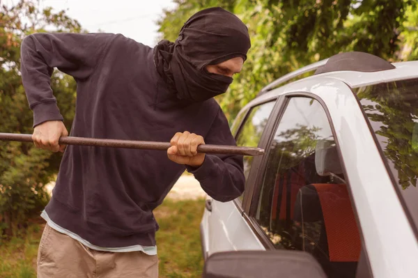
{"type": "Polygon", "coordinates": [[[36,148],[52,150],[54,153],[65,150],[65,145],[59,145],[60,137],[68,136],[68,131],[62,121],[47,121],[36,125],[33,130],[32,140],[36,148]]]}

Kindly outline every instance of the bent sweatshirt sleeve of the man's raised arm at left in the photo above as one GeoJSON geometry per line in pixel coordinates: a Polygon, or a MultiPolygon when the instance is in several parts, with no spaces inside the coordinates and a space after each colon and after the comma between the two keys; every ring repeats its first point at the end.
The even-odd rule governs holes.
{"type": "Polygon", "coordinates": [[[33,111],[33,127],[62,121],[51,89],[54,68],[75,79],[87,79],[101,60],[114,34],[34,33],[20,48],[22,83],[33,111]]]}

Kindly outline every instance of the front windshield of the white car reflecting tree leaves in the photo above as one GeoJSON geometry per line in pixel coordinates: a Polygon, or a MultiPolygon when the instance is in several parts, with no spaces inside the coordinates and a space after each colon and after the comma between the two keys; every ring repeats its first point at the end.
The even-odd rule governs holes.
{"type": "Polygon", "coordinates": [[[401,201],[418,227],[418,79],[356,88],[401,201]]]}

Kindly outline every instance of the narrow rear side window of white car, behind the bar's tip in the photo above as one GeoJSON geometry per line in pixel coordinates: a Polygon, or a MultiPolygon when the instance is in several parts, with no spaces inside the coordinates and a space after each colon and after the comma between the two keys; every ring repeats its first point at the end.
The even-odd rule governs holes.
{"type": "MultiPolygon", "coordinates": [[[[244,123],[242,123],[240,130],[235,137],[237,146],[248,146],[248,147],[257,147],[260,142],[261,135],[265,125],[267,124],[268,118],[274,107],[275,100],[272,102],[266,102],[262,105],[252,107],[249,110],[247,118],[245,118],[244,123]]],[[[244,175],[245,180],[247,181],[249,176],[249,171],[251,169],[251,164],[253,157],[245,156],[244,158],[244,175]]],[[[247,187],[247,184],[245,185],[247,187]]],[[[242,196],[239,197],[242,200],[242,196]]]]}

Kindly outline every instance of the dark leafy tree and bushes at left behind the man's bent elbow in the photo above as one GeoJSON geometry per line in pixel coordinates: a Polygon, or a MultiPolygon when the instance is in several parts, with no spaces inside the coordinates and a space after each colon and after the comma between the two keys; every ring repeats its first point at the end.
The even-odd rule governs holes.
{"type": "MultiPolygon", "coordinates": [[[[29,109],[20,77],[20,43],[24,36],[42,31],[82,31],[64,11],[40,10],[37,2],[21,0],[0,10],[0,132],[32,133],[29,109]]],[[[64,123],[72,123],[76,84],[72,77],[54,72],[51,80],[64,123]]],[[[48,201],[45,184],[59,169],[61,154],[31,144],[0,142],[0,237],[48,201]],[[3,230],[3,231],[2,231],[3,230]]]]}

